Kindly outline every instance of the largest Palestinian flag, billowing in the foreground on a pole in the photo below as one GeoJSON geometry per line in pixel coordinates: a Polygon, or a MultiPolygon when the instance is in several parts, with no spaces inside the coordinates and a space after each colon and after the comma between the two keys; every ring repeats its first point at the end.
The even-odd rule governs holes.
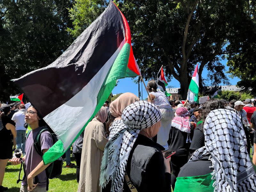
{"type": "Polygon", "coordinates": [[[71,146],[108,99],[117,79],[138,75],[128,22],[111,1],[56,61],[15,79],[59,137],[44,154],[44,164],[71,146]]]}

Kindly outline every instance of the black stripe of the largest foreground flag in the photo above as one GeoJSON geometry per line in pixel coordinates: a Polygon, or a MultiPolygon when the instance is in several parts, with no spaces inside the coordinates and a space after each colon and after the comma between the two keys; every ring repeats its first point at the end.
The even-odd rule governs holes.
{"type": "Polygon", "coordinates": [[[122,15],[110,3],[56,61],[14,82],[46,116],[83,89],[116,52],[124,33],[122,15]]]}

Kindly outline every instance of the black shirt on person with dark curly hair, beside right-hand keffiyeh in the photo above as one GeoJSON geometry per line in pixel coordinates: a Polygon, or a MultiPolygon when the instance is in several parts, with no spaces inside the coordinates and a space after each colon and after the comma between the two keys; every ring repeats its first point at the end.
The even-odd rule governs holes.
{"type": "Polygon", "coordinates": [[[200,123],[196,125],[196,129],[194,131],[194,136],[189,148],[190,153],[193,153],[196,149],[199,149],[204,146],[204,124],[200,123]]]}

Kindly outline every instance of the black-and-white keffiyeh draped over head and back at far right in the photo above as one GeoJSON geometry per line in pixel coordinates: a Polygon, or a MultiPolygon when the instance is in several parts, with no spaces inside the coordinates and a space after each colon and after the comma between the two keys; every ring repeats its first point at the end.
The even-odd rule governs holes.
{"type": "Polygon", "coordinates": [[[204,122],[205,146],[189,161],[211,154],[214,191],[256,191],[256,174],[246,150],[240,117],[228,109],[211,111],[204,122]]]}

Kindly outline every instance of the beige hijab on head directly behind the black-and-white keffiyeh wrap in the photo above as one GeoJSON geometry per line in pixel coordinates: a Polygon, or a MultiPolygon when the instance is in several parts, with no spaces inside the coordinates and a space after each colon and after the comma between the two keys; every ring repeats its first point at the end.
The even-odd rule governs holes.
{"type": "MultiPolygon", "coordinates": [[[[139,101],[140,99],[133,93],[123,93],[116,100],[109,105],[109,111],[116,119],[121,119],[124,109],[132,103],[139,101]]],[[[115,120],[116,120],[115,119],[115,120]]]]}

